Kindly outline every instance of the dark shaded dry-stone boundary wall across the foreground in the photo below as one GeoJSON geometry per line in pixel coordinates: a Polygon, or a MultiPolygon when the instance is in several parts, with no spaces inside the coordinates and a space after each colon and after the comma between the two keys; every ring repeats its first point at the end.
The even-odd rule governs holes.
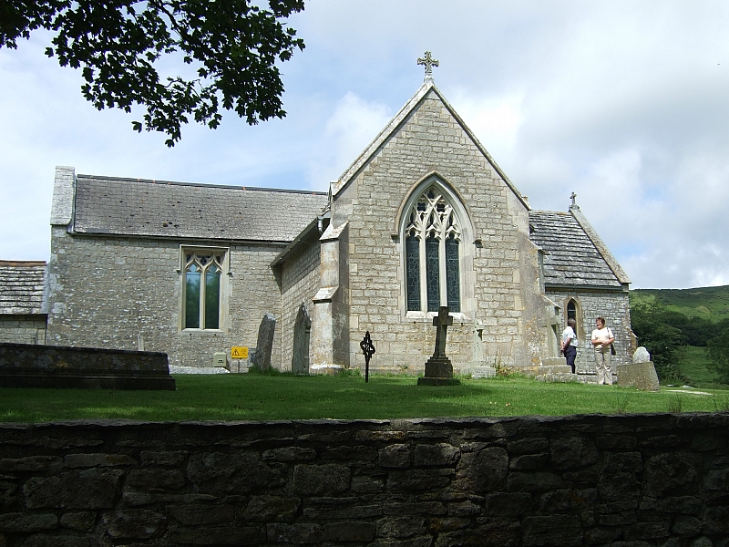
{"type": "Polygon", "coordinates": [[[0,424],[0,546],[729,544],[729,414],[0,424]]]}

